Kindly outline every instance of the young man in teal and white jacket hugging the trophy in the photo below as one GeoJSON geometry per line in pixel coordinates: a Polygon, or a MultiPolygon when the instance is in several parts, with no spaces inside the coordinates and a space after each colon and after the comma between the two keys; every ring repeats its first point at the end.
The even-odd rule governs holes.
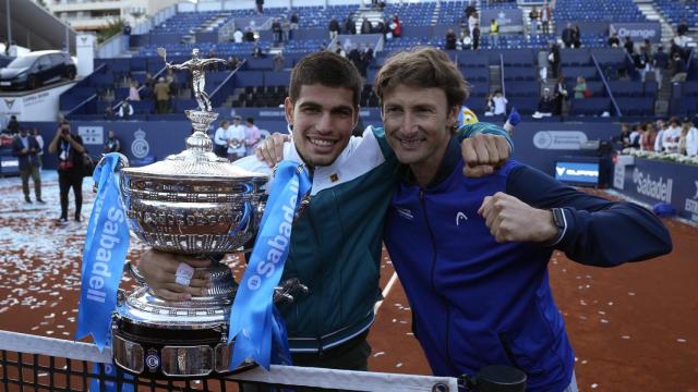
{"type": "MultiPolygon", "coordinates": [[[[299,366],[365,370],[371,353],[366,335],[381,296],[382,234],[397,160],[381,130],[351,136],[362,85],[347,59],[315,52],[293,68],[285,101],[292,142],[284,146],[282,156],[304,162],[312,174],[311,201],[294,223],[281,277],[282,281],[298,278],[310,294],[279,307],[293,364],[299,366]]],[[[491,172],[509,155],[504,137],[479,133],[506,135],[485,124],[460,131],[460,137],[468,137],[464,140],[467,170],[474,174],[491,172]]],[[[236,164],[270,171],[256,157],[236,164]]],[[[149,250],[139,270],[161,297],[177,301],[201,295],[206,289],[202,277],[195,274],[189,286],[171,283],[181,260],[181,256],[149,250]]],[[[193,258],[186,262],[207,265],[193,258]]]]}

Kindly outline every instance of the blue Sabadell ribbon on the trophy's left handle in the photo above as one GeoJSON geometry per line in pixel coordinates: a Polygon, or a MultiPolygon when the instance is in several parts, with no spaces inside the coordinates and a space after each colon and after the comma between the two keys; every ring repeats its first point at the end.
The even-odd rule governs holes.
{"type": "Polygon", "coordinates": [[[129,226],[119,200],[119,154],[104,157],[93,177],[98,193],[87,224],[76,339],[92,334],[101,352],[111,341],[111,314],[129,249],[129,226]]]}

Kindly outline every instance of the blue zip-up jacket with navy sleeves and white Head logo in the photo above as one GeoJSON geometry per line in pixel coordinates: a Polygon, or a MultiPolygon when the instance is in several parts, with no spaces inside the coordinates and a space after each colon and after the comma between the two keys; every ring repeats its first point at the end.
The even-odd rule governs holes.
{"type": "Polygon", "coordinates": [[[413,331],[434,375],[473,375],[486,365],[522,369],[529,391],[562,391],[574,358],[549,285],[553,247],[498,244],[477,213],[505,192],[537,208],[563,207],[554,248],[575,261],[611,267],[671,252],[664,225],[642,207],[612,203],[509,161],[491,176],[461,174],[452,140],[436,179],[420,188],[401,168],[385,243],[413,313],[413,331]]]}

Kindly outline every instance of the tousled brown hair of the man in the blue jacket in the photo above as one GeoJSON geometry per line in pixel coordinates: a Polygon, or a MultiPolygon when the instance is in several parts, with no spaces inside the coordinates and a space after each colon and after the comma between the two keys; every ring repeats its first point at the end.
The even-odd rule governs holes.
{"type": "Polygon", "coordinates": [[[373,84],[381,106],[385,90],[398,85],[441,88],[446,93],[449,107],[462,105],[470,93],[470,86],[448,54],[431,47],[402,51],[385,62],[373,84]]]}

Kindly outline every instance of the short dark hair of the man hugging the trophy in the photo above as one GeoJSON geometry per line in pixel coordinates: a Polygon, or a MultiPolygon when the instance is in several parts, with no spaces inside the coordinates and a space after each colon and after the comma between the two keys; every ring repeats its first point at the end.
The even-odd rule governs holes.
{"type": "Polygon", "coordinates": [[[357,68],[339,54],[323,50],[302,58],[291,71],[291,101],[298,100],[303,85],[314,84],[349,88],[353,91],[353,105],[359,106],[363,81],[357,68]]]}

